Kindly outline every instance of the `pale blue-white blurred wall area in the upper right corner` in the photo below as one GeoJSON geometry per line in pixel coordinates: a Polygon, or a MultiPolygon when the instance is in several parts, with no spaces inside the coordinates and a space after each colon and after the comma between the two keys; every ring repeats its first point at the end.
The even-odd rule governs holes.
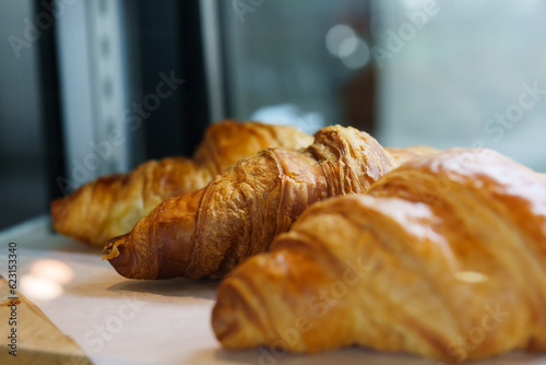
{"type": "Polygon", "coordinates": [[[378,1],[376,46],[393,50],[382,62],[380,140],[484,145],[546,172],[546,2],[438,0],[411,36],[406,12],[423,14],[426,2],[378,1]],[[389,39],[401,26],[403,46],[389,39]],[[524,95],[534,83],[538,101],[524,95]],[[507,113],[513,121],[497,119],[507,113]]]}

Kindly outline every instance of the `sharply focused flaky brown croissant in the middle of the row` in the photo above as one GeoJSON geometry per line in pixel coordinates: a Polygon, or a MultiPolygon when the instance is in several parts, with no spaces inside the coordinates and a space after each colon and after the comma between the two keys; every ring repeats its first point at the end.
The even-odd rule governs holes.
{"type": "Polygon", "coordinates": [[[205,188],[166,200],[110,239],[104,258],[132,279],[222,276],[268,249],[309,204],[365,192],[393,167],[369,134],[327,127],[305,150],[261,151],[205,188]]]}

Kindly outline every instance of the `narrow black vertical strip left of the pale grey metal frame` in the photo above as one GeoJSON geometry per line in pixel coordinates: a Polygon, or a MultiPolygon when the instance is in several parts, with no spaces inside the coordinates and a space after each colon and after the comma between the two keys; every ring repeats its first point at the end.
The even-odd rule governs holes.
{"type": "MultiPolygon", "coordinates": [[[[40,13],[45,8],[51,9],[54,0],[36,0],[35,12],[40,13]],[[45,5],[47,4],[47,7],[45,5]]],[[[34,19],[35,16],[33,16],[34,19]]],[[[38,39],[38,78],[40,82],[41,111],[45,138],[45,160],[47,168],[48,198],[52,200],[62,196],[62,190],[57,184],[59,177],[66,177],[64,145],[62,137],[61,104],[59,90],[59,62],[57,58],[56,19],[52,25],[41,32],[38,39]]],[[[48,209],[48,208],[47,208],[48,209]]]]}

